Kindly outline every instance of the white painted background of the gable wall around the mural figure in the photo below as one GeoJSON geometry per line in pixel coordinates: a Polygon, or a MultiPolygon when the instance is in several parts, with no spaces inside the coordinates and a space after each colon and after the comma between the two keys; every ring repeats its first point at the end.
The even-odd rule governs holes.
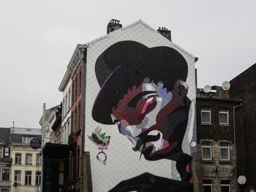
{"type": "MultiPolygon", "coordinates": [[[[143,156],[140,158],[140,153],[135,153],[132,150],[132,144],[123,135],[118,133],[116,125],[102,125],[94,121],[91,117],[91,110],[94,105],[94,100],[99,93],[100,87],[95,75],[95,63],[97,58],[103,51],[105,51],[110,45],[120,41],[135,41],[140,42],[147,47],[167,46],[177,50],[184,56],[188,64],[187,84],[189,85],[188,97],[195,104],[195,56],[187,53],[187,51],[178,47],[178,45],[170,42],[161,34],[159,34],[154,28],[151,28],[142,20],[132,23],[131,25],[119,28],[116,31],[111,32],[104,37],[100,37],[92,42],[89,42],[87,48],[86,59],[86,106],[85,106],[85,151],[90,152],[91,157],[91,177],[93,191],[109,191],[113,186],[117,185],[122,180],[127,180],[136,175],[150,172],[151,174],[161,177],[167,177],[173,180],[181,180],[179,174],[173,167],[176,167],[176,162],[170,162],[167,159],[161,159],[159,161],[146,161],[143,156]],[[108,155],[107,164],[103,165],[97,160],[97,155],[100,150],[97,149],[97,145],[88,139],[95,128],[102,128],[102,133],[110,136],[110,145],[105,153],[108,155]],[[111,176],[110,176],[111,175],[111,176]]],[[[195,107],[192,105],[192,107],[195,107]]],[[[192,109],[192,110],[195,110],[192,109]]],[[[189,131],[185,134],[184,143],[189,146],[194,127],[194,116],[191,116],[189,131]],[[190,140],[189,140],[190,137],[190,140]]],[[[195,139],[195,138],[194,138],[195,139]]],[[[192,146],[192,145],[191,145],[192,146]]],[[[194,147],[195,149],[195,147],[194,147]]],[[[185,153],[191,155],[193,149],[187,149],[185,153]]]]}

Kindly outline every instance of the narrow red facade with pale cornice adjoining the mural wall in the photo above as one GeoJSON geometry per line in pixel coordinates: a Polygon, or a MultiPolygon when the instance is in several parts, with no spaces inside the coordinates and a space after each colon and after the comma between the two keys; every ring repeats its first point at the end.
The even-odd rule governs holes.
{"type": "Polygon", "coordinates": [[[69,179],[70,188],[74,191],[80,191],[81,188],[81,160],[82,160],[82,133],[84,129],[83,118],[83,80],[86,63],[86,46],[78,45],[72,55],[68,71],[72,79],[71,94],[71,119],[69,134],[69,179]]]}

